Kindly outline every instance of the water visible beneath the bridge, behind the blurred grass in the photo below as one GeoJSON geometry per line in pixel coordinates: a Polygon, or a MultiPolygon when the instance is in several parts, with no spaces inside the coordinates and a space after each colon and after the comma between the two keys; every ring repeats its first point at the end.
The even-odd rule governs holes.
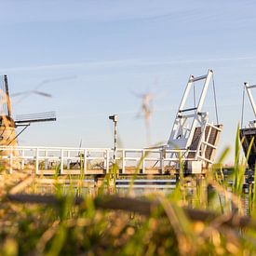
{"type": "MultiPolygon", "coordinates": [[[[133,196],[141,196],[148,194],[162,194],[169,195],[173,192],[176,187],[175,180],[167,179],[167,180],[145,180],[138,179],[134,180],[133,184],[130,183],[131,180],[123,179],[116,180],[116,185],[110,186],[108,188],[104,188],[104,192],[106,194],[117,194],[117,195],[133,195],[133,196]]],[[[94,180],[86,180],[85,186],[77,186],[77,182],[71,184],[69,181],[67,183],[60,184],[61,190],[63,194],[69,193],[71,190],[74,192],[74,195],[98,195],[99,187],[97,187],[97,183],[94,180]]],[[[26,193],[35,193],[35,194],[54,194],[56,192],[56,187],[53,183],[39,183],[34,184],[29,187],[26,193]]],[[[186,197],[189,205],[198,205],[199,202],[196,202],[196,196],[194,196],[195,187],[189,185],[186,187],[186,197]]],[[[206,198],[209,198],[210,191],[205,190],[206,198]]],[[[207,199],[208,200],[208,199],[207,199]]],[[[229,198],[225,198],[223,195],[215,195],[215,198],[212,200],[211,205],[213,209],[220,209],[224,206],[225,210],[230,211],[232,209],[232,203],[229,198]]],[[[249,195],[244,194],[242,198],[242,208],[245,211],[245,214],[249,214],[249,195]]]]}

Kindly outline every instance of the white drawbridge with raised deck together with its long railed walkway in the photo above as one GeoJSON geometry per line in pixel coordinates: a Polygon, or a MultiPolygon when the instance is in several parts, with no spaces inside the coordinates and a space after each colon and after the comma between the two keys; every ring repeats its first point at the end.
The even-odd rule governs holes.
{"type": "MultiPolygon", "coordinates": [[[[29,117],[20,118],[20,122],[29,120],[29,117]]],[[[120,174],[179,173],[181,168],[188,173],[200,174],[213,164],[221,132],[213,72],[209,70],[205,75],[189,76],[165,145],[143,149],[1,145],[0,152],[8,154],[0,154],[0,161],[7,164],[10,173],[26,169],[38,175],[106,174],[111,171],[114,162],[120,174]],[[209,120],[209,113],[204,110],[204,101],[211,84],[215,100],[215,123],[209,120]],[[193,101],[193,106],[189,106],[193,92],[195,100],[197,86],[199,98],[193,101]]]]}

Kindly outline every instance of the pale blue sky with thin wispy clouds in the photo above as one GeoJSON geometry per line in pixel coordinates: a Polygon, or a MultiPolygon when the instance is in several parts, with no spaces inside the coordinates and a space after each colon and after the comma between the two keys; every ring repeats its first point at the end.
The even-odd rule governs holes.
{"type": "MultiPolygon", "coordinates": [[[[0,0],[0,9],[0,74],[10,92],[43,83],[40,90],[53,96],[15,97],[14,115],[58,116],[27,129],[20,144],[79,146],[82,139],[84,147],[110,147],[108,115],[118,114],[122,146],[147,146],[134,95],[146,92],[155,95],[151,142],[166,142],[189,74],[209,68],[221,148],[234,144],[242,84],[256,83],[255,1],[0,0]]],[[[212,89],[208,97],[210,111],[212,89]]],[[[248,101],[246,110],[249,119],[248,101]]]]}

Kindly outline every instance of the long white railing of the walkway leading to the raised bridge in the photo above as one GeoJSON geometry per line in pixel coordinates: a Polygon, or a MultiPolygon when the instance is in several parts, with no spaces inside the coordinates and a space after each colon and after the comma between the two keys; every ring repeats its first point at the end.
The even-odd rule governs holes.
{"type": "MultiPolygon", "coordinates": [[[[120,173],[164,173],[182,161],[194,161],[195,151],[163,149],[116,149],[116,163],[120,173]],[[190,157],[189,157],[190,155],[190,157]]],[[[40,175],[103,174],[113,166],[111,148],[69,148],[0,146],[0,163],[10,173],[31,169],[40,175]]]]}

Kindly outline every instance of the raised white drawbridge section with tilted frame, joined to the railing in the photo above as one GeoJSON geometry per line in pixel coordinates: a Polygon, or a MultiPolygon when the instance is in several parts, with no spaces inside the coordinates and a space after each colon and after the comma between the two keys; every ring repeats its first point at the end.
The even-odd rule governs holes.
{"type": "MultiPolygon", "coordinates": [[[[180,155],[184,160],[186,158],[193,158],[193,160],[186,161],[186,168],[190,169],[192,172],[198,172],[200,171],[200,168],[208,168],[209,165],[213,163],[217,143],[222,131],[222,125],[218,124],[215,86],[214,80],[212,79],[212,70],[209,70],[208,74],[197,77],[190,75],[168,139],[168,150],[180,149],[185,151],[182,156],[180,155]],[[212,85],[217,124],[210,123],[209,113],[204,112],[203,110],[204,101],[211,80],[213,81],[212,85]],[[194,105],[186,107],[189,96],[191,97],[191,91],[192,89],[195,90],[195,87],[197,86],[196,82],[198,81],[203,82],[199,100],[198,102],[195,102],[194,99],[194,105]]],[[[178,157],[176,152],[173,153],[173,156],[174,155],[178,157]]]]}

